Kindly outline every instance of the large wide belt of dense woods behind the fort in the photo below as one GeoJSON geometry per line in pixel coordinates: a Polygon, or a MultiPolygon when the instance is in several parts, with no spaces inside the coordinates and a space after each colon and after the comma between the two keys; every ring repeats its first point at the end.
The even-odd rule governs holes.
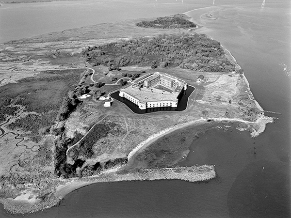
{"type": "Polygon", "coordinates": [[[220,43],[205,34],[141,37],[99,47],[87,47],[82,54],[93,66],[179,66],[208,72],[230,72],[235,69],[234,64],[226,58],[220,43]]]}

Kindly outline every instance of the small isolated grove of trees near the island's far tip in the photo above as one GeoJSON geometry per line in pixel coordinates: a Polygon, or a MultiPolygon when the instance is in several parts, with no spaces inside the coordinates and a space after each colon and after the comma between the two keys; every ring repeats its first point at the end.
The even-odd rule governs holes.
{"type": "Polygon", "coordinates": [[[194,23],[185,19],[181,15],[158,17],[155,20],[139,22],[136,24],[136,26],[158,29],[189,29],[196,27],[194,23]]]}

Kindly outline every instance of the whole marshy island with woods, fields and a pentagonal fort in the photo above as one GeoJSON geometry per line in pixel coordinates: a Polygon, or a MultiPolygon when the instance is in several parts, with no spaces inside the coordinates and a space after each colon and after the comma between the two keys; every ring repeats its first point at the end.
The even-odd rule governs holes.
{"type": "MultiPolygon", "coordinates": [[[[190,17],[126,20],[0,45],[0,203],[9,213],[56,205],[99,182],[215,179],[215,166],[179,166],[189,145],[160,143],[195,126],[262,133],[273,121],[243,70],[190,17]],[[139,109],[183,110],[138,114],[139,109]]],[[[207,134],[207,133],[206,133],[207,134]]]]}

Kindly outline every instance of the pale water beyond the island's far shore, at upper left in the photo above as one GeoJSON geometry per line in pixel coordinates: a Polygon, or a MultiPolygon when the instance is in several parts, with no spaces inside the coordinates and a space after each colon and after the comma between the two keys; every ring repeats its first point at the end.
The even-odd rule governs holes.
{"type": "MultiPolygon", "coordinates": [[[[200,0],[203,2],[202,0],[200,0]]],[[[197,4],[199,7],[201,3],[197,4]]],[[[192,10],[173,0],[81,0],[2,4],[0,43],[125,19],[168,16],[192,10]]]]}

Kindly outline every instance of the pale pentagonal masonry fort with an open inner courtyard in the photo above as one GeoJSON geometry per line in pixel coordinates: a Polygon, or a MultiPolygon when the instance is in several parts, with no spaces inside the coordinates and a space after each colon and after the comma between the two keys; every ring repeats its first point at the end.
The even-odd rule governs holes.
{"type": "Polygon", "coordinates": [[[121,89],[119,96],[136,104],[139,109],[178,107],[178,97],[187,83],[168,74],[155,72],[131,86],[121,89]]]}

